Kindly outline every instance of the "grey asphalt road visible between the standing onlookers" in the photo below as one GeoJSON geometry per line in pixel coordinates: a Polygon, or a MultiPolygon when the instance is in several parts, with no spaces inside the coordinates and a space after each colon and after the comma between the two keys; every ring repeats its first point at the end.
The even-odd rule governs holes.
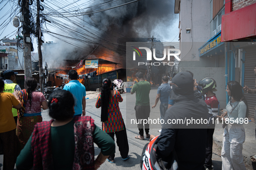
{"type": "MultiPolygon", "coordinates": [[[[155,104],[155,98],[156,98],[156,92],[157,88],[152,88],[150,91],[150,106],[152,107],[153,104],[155,104]]],[[[123,102],[119,104],[120,111],[122,113],[124,122],[126,123],[126,132],[128,136],[128,142],[129,142],[129,156],[130,159],[123,161],[120,152],[118,150],[118,147],[116,145],[116,157],[114,159],[115,163],[111,164],[110,162],[106,161],[104,164],[101,165],[99,170],[141,170],[139,167],[141,154],[143,151],[143,148],[146,144],[149,143],[149,139],[146,139],[144,141],[135,139],[136,135],[139,135],[139,131],[136,128],[136,125],[132,125],[128,123],[130,122],[130,119],[135,118],[135,94],[131,95],[130,93],[122,94],[123,102]]],[[[100,123],[100,109],[97,109],[95,107],[96,98],[94,99],[88,99],[86,100],[86,115],[91,116],[95,120],[95,124],[99,127],[101,127],[100,123]]],[[[157,106],[152,109],[150,113],[151,119],[157,119],[160,117],[159,113],[159,105],[160,101],[157,104],[157,106]]],[[[51,118],[48,115],[48,110],[44,110],[42,112],[43,121],[49,121],[51,118]]],[[[157,132],[159,129],[161,129],[161,125],[156,124],[152,127],[150,127],[149,134],[152,135],[159,135],[160,133],[157,132]]],[[[144,134],[145,135],[145,134],[144,134]]],[[[189,145],[189,140],[188,140],[189,145]]],[[[193,146],[191,146],[193,147],[193,146]]],[[[97,145],[94,145],[94,151],[95,151],[95,158],[100,153],[100,149],[97,147],[97,145]]],[[[214,170],[221,170],[221,157],[220,157],[220,148],[217,148],[217,146],[214,146],[214,154],[213,154],[213,166],[214,170]]],[[[185,159],[189,159],[185,157],[185,159]]],[[[0,164],[3,164],[3,155],[0,155],[0,164]]],[[[2,165],[0,165],[2,166],[2,165]]],[[[3,168],[3,167],[1,167],[3,168]]]]}

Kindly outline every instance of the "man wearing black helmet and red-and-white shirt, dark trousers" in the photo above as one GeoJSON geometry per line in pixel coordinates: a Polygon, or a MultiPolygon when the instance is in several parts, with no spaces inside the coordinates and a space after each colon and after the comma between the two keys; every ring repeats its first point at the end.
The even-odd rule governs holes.
{"type": "MultiPolygon", "coordinates": [[[[199,86],[202,87],[201,93],[206,95],[205,103],[209,110],[208,116],[210,120],[216,120],[218,115],[218,105],[219,101],[216,98],[216,95],[213,91],[217,91],[217,84],[214,79],[205,78],[202,79],[199,83],[199,86]]],[[[210,121],[212,122],[212,121],[210,121]]],[[[207,128],[207,142],[206,142],[206,155],[204,166],[206,170],[212,170],[212,145],[213,145],[213,134],[214,134],[215,123],[209,123],[207,128]]]]}

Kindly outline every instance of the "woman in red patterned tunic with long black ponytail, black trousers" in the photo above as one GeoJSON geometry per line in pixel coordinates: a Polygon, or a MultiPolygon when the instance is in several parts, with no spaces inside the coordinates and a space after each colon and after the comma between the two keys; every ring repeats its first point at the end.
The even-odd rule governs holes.
{"type": "MultiPolygon", "coordinates": [[[[117,146],[123,160],[127,160],[129,145],[127,140],[126,128],[123,122],[123,117],[120,112],[119,102],[123,101],[121,94],[112,88],[112,83],[109,78],[103,79],[101,92],[96,101],[96,108],[101,107],[100,119],[102,122],[102,129],[109,134],[114,140],[114,135],[117,137],[117,146]]],[[[115,154],[111,154],[107,161],[114,163],[115,154]]]]}

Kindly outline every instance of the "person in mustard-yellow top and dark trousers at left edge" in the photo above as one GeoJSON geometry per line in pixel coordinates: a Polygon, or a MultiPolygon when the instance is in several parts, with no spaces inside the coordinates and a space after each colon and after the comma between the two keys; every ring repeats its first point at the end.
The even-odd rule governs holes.
{"type": "Polygon", "coordinates": [[[0,79],[0,145],[3,143],[3,169],[13,170],[17,157],[16,123],[12,108],[21,107],[18,91],[3,92],[4,82],[0,79]]]}

